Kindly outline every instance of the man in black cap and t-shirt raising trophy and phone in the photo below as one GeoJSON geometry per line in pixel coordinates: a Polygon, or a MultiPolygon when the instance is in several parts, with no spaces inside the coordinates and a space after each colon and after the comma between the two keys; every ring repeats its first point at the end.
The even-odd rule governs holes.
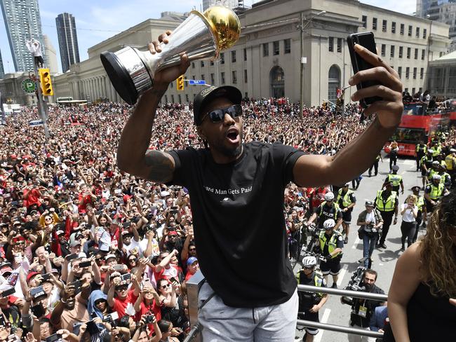
{"type": "MultiPolygon", "coordinates": [[[[196,16],[201,18],[201,14],[196,16]]],[[[231,18],[213,21],[213,27],[220,29],[216,39],[231,32],[226,26],[233,22],[231,18]],[[217,22],[224,23],[224,29],[217,22]]],[[[119,56],[105,56],[103,64],[114,86],[116,77],[133,79],[119,88],[133,94],[123,98],[134,103],[142,94],[123,128],[117,163],[131,175],[189,189],[198,260],[206,278],[199,292],[199,306],[204,304],[199,310],[203,341],[293,341],[297,282],[286,257],[283,191],[289,182],[307,187],[342,184],[367,170],[401,121],[401,81],[380,57],[361,46],[356,48],[374,68],[358,72],[349,84],[377,80],[383,86],[358,90],[351,100],[378,96],[382,101],[365,111],[365,115],[376,114],[373,123],[335,156],[304,155],[278,142],[243,143],[242,96],[232,86],[210,86],[194,99],[194,123],[206,149],[148,151],[159,101],[169,83],[185,74],[194,57],[184,48],[177,63],[166,68],[149,61],[161,54],[166,60],[168,46],[188,40],[183,34],[180,27],[173,34],[161,34],[158,41],[149,44],[149,51],[142,53],[143,64],[136,64],[141,67],[126,66],[123,74],[118,69],[119,56]],[[117,64],[107,65],[112,62],[117,64]],[[148,74],[154,70],[153,80],[147,80],[153,83],[149,90],[141,88],[145,83],[142,69],[148,74]],[[135,78],[138,75],[142,81],[135,78]]],[[[193,37],[195,40],[199,38],[193,37]]]]}

